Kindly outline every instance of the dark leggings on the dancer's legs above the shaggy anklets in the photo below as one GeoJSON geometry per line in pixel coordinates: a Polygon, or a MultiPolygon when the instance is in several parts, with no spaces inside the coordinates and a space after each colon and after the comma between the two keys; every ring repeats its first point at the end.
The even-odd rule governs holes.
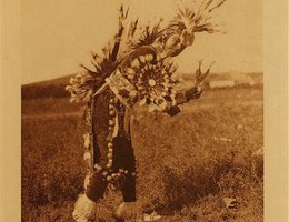
{"type": "MultiPolygon", "coordinates": [[[[92,131],[96,135],[93,139],[94,152],[97,157],[93,157],[94,163],[102,169],[106,169],[108,163],[108,122],[109,122],[109,93],[99,94],[96,98],[94,111],[92,117],[92,131]]],[[[123,123],[123,121],[122,121],[123,123]]],[[[112,168],[116,172],[119,169],[124,169],[128,174],[121,180],[120,190],[124,202],[136,201],[136,159],[133,154],[133,148],[130,138],[124,133],[119,132],[118,137],[113,139],[113,159],[112,168]]],[[[92,201],[98,201],[103,198],[106,188],[108,185],[107,180],[101,174],[101,171],[94,171],[90,178],[89,185],[86,194],[92,201]]]]}

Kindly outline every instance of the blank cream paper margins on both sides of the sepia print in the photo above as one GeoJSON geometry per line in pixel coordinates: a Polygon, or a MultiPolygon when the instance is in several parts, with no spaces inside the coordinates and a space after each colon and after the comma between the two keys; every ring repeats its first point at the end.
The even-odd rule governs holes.
{"type": "MultiPolygon", "coordinates": [[[[289,198],[288,6],[287,0],[278,3],[265,0],[263,3],[266,221],[286,222],[289,198]]],[[[20,6],[20,0],[1,1],[0,221],[3,222],[20,221],[20,84],[23,61],[20,6]]]]}

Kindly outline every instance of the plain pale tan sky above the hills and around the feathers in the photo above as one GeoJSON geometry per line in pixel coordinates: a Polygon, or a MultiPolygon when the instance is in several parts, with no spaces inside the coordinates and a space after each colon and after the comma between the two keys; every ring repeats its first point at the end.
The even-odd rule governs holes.
{"type": "MultiPolygon", "coordinates": [[[[118,29],[120,3],[141,23],[169,21],[178,6],[193,0],[21,0],[22,83],[81,71],[118,29]]],[[[227,0],[215,14],[226,33],[197,33],[177,59],[178,71],[193,73],[197,61],[215,61],[211,72],[262,71],[262,0],[227,0]]]]}

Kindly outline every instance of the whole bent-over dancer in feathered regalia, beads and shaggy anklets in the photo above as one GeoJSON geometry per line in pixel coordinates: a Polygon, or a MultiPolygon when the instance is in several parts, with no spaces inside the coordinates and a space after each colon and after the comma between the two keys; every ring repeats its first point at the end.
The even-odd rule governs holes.
{"type": "Polygon", "coordinates": [[[86,192],[79,196],[72,213],[76,221],[94,219],[97,204],[109,183],[120,189],[123,198],[114,218],[136,219],[137,174],[130,137],[131,113],[136,105],[147,105],[149,112],[176,115],[180,112],[178,104],[200,98],[201,84],[210,68],[202,73],[200,61],[195,85],[180,92],[176,90],[179,81],[171,59],[193,43],[197,32],[216,31],[208,20],[225,0],[219,0],[216,6],[212,2],[205,0],[198,10],[179,10],[165,28],[159,22],[143,31],[138,29],[136,20],[130,23],[124,44],[121,41],[128,10],[121,7],[113,48],[110,49],[110,44],[103,48],[102,57],[93,54],[96,71],[83,67],[87,72],[71,79],[67,90],[72,101],[87,102],[89,125],[84,158],[89,160],[90,170],[86,178],[86,192]]]}

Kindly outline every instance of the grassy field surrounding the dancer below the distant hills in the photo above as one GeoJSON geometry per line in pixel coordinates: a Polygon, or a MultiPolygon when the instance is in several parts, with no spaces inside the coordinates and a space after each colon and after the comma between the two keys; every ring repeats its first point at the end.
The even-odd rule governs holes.
{"type": "MultiPolygon", "coordinates": [[[[79,109],[63,98],[22,101],[24,222],[72,221],[84,176],[79,109]]],[[[143,212],[157,211],[160,222],[263,220],[263,179],[251,171],[251,153],[263,144],[261,88],[206,91],[173,118],[134,119],[132,130],[143,212]]],[[[108,191],[98,221],[112,221],[120,201],[108,191]]]]}

